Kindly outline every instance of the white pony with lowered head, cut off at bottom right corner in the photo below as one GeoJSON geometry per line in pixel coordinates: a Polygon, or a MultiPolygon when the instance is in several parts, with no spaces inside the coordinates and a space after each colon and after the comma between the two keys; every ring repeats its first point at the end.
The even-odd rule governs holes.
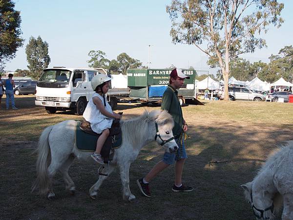
{"type": "Polygon", "coordinates": [[[293,141],[273,154],[252,182],[241,185],[256,219],[293,220],[293,141]]]}

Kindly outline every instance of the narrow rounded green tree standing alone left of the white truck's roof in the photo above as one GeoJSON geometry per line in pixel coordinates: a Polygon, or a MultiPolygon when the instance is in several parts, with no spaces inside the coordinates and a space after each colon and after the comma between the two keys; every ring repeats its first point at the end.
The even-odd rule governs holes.
{"type": "Polygon", "coordinates": [[[33,79],[39,79],[42,70],[47,68],[51,59],[48,55],[48,43],[43,42],[39,36],[37,39],[30,37],[25,47],[26,59],[28,62],[29,76],[33,79]]]}

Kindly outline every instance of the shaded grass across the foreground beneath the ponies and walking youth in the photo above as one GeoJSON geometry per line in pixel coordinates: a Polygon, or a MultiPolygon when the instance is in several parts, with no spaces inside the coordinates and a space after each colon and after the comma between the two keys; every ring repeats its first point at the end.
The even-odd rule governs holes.
{"type": "MultiPolygon", "coordinates": [[[[38,126],[45,124],[40,120],[38,126]]],[[[22,121],[28,129],[30,121],[22,121]]],[[[48,123],[48,122],[47,122],[48,123]]],[[[219,123],[189,127],[186,141],[188,159],[183,182],[192,192],[174,193],[174,166],[161,172],[150,184],[152,198],[140,195],[135,180],[146,175],[162,159],[164,150],[155,143],[144,147],[130,168],[130,189],[137,203],[121,197],[119,172],[114,172],[99,191],[98,200],[88,196],[88,189],[98,178],[97,166],[76,161],[69,174],[77,186],[75,196],[64,191],[62,177],[54,183],[56,200],[49,201],[30,193],[35,179],[36,147],[5,145],[0,148],[2,187],[0,212],[3,219],[253,219],[250,205],[244,200],[240,185],[251,181],[257,169],[275,149],[275,144],[291,139],[289,124],[274,130],[219,123]],[[214,164],[210,161],[227,161],[214,164]],[[13,180],[13,187],[11,181],[13,180]],[[20,196],[21,195],[21,196],[20,196]],[[18,212],[15,212],[18,210],[18,212]],[[97,214],[98,213],[98,214],[97,214]]]]}

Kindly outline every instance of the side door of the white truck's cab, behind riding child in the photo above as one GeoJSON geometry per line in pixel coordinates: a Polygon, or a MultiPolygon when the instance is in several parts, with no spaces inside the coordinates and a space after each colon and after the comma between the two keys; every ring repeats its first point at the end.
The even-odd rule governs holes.
{"type": "Polygon", "coordinates": [[[76,102],[79,97],[86,97],[88,92],[86,75],[82,70],[75,70],[72,78],[72,102],[76,102]]]}

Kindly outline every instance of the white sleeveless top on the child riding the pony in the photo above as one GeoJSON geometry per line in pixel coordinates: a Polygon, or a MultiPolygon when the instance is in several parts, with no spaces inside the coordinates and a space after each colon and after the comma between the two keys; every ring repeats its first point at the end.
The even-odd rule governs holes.
{"type": "MultiPolygon", "coordinates": [[[[93,97],[99,97],[104,106],[104,98],[97,92],[94,93],[93,97]]],[[[93,97],[87,103],[87,106],[84,110],[84,119],[90,122],[91,129],[96,133],[102,133],[106,128],[111,128],[114,118],[109,118],[101,113],[101,111],[93,103],[93,97]]],[[[106,111],[113,113],[111,106],[106,100],[106,111]]]]}

